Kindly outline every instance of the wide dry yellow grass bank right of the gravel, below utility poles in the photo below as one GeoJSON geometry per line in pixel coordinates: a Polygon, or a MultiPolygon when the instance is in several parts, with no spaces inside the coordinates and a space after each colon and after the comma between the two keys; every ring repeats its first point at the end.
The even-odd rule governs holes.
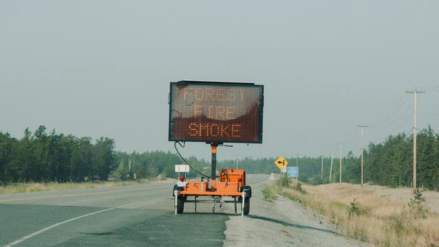
{"type": "Polygon", "coordinates": [[[439,246],[438,213],[426,211],[424,219],[407,204],[349,184],[302,187],[307,193],[285,188],[285,196],[323,215],[346,237],[371,246],[439,246]]]}

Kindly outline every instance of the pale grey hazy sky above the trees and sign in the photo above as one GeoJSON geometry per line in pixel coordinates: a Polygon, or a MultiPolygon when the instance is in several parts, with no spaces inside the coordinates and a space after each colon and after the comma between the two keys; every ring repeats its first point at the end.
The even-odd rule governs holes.
{"type": "Polygon", "coordinates": [[[0,1],[0,131],[43,124],[174,152],[169,82],[239,80],[265,85],[263,144],[219,159],[338,154],[339,142],[358,154],[358,124],[378,124],[366,141],[411,130],[414,87],[433,89],[418,125],[439,132],[438,13],[436,0],[0,1]]]}

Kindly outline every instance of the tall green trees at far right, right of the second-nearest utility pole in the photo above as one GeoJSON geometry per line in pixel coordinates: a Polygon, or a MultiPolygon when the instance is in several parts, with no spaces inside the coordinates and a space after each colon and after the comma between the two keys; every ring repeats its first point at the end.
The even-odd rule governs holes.
{"type": "MultiPolygon", "coordinates": [[[[439,135],[429,126],[417,134],[418,187],[439,189],[439,135]]],[[[412,186],[413,136],[396,134],[382,143],[370,143],[365,176],[371,183],[390,187],[412,186]]]]}

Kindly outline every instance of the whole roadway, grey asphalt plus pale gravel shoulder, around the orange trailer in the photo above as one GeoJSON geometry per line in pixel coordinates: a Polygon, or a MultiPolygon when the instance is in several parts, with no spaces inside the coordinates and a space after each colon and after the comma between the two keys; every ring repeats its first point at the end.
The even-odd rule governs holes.
{"type": "Polygon", "coordinates": [[[264,200],[269,176],[250,175],[250,215],[233,205],[185,204],[174,182],[0,196],[0,246],[361,246],[286,198],[264,200]]]}

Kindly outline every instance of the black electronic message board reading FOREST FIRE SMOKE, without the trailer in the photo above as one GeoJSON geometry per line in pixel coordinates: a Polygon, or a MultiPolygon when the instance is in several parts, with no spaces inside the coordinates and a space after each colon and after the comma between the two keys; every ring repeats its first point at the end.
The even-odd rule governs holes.
{"type": "Polygon", "coordinates": [[[263,85],[171,82],[169,141],[262,143],[263,85]]]}

